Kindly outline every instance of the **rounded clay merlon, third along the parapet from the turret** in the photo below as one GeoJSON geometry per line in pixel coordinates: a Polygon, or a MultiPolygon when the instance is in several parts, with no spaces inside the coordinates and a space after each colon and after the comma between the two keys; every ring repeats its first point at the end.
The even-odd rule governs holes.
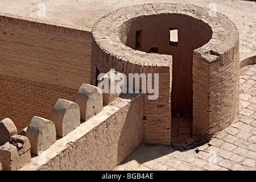
{"type": "Polygon", "coordinates": [[[55,124],[57,136],[64,137],[80,125],[80,108],[75,102],[59,98],[50,120],[55,124]]]}

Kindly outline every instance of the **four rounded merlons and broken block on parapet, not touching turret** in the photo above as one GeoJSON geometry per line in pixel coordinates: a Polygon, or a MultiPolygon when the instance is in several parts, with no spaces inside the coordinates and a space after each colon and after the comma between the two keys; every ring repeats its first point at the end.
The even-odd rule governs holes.
{"type": "Polygon", "coordinates": [[[19,134],[10,118],[0,121],[0,171],[22,168],[30,162],[31,154],[46,151],[56,142],[56,136],[64,137],[75,130],[81,122],[100,112],[103,104],[109,104],[113,95],[102,94],[96,86],[82,84],[75,102],[59,98],[50,120],[34,116],[19,134]]]}

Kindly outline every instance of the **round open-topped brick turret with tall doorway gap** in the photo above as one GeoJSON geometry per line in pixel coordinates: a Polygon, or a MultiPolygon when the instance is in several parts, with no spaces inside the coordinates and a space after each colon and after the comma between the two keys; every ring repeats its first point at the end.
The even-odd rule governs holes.
{"type": "Polygon", "coordinates": [[[144,94],[146,143],[181,143],[192,135],[209,139],[228,126],[238,114],[239,65],[236,26],[225,15],[209,16],[202,7],[124,7],[92,28],[93,85],[98,73],[111,68],[126,75],[159,73],[159,98],[148,100],[144,94]],[[170,43],[170,28],[178,30],[176,47],[170,43]],[[177,117],[178,112],[184,117],[177,117]]]}

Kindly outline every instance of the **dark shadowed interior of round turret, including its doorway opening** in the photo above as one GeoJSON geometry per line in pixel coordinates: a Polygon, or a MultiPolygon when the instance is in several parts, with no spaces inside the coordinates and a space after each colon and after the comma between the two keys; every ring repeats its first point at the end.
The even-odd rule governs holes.
{"type": "Polygon", "coordinates": [[[192,137],[193,111],[196,112],[193,110],[193,50],[209,42],[212,29],[192,16],[166,13],[123,23],[119,38],[127,47],[138,51],[172,55],[171,96],[168,96],[171,97],[171,141],[184,143],[192,137]],[[183,115],[179,121],[177,113],[183,115]]]}

